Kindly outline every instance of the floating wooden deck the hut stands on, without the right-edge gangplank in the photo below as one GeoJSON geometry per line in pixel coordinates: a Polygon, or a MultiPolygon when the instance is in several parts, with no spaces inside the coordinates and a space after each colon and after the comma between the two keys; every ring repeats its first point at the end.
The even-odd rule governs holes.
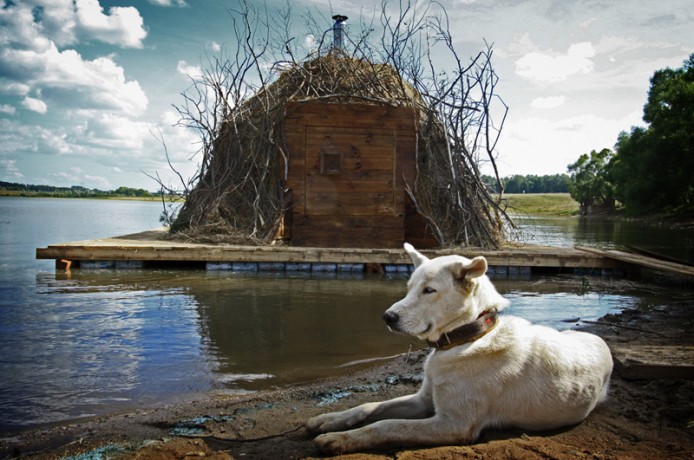
{"type": "MultiPolygon", "coordinates": [[[[451,253],[466,257],[483,255],[490,266],[499,267],[601,270],[623,266],[612,258],[570,248],[510,246],[494,251],[437,249],[422,252],[430,257],[451,253]]],[[[38,248],[36,257],[55,259],[59,267],[60,261],[411,264],[409,256],[402,249],[195,244],[167,239],[163,229],[112,238],[51,244],[46,248],[38,248]]]]}

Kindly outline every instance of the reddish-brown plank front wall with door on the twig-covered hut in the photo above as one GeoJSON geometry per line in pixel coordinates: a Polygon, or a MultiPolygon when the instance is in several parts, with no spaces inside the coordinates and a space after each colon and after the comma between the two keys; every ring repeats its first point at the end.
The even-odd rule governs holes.
{"type": "Polygon", "coordinates": [[[416,114],[409,107],[289,103],[289,209],[293,246],[437,246],[405,192],[416,174],[416,114]]]}

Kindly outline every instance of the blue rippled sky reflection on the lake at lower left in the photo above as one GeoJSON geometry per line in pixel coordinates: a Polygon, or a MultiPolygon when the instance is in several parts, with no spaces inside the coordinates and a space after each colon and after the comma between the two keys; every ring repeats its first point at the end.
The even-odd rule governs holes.
{"type": "Polygon", "coordinates": [[[209,388],[188,377],[209,372],[190,296],[99,281],[42,274],[30,304],[3,309],[0,426],[102,414],[209,388]]]}

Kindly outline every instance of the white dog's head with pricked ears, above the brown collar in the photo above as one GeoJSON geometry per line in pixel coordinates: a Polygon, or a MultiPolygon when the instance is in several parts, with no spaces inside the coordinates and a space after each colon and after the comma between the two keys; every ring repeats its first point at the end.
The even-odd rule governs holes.
{"type": "Polygon", "coordinates": [[[415,271],[407,283],[407,296],[383,315],[391,330],[435,341],[443,333],[474,321],[488,308],[501,310],[508,305],[485,275],[484,257],[429,259],[409,243],[405,243],[405,250],[415,271]]]}

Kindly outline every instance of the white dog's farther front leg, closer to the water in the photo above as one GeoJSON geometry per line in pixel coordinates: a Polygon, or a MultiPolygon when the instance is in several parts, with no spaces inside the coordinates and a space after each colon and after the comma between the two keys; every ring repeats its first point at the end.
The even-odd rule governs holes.
{"type": "Polygon", "coordinates": [[[366,403],[342,412],[313,417],[306,422],[306,429],[312,433],[327,433],[348,430],[355,426],[389,418],[416,419],[431,417],[433,414],[434,404],[428,385],[425,384],[413,395],[389,401],[366,403]]]}

